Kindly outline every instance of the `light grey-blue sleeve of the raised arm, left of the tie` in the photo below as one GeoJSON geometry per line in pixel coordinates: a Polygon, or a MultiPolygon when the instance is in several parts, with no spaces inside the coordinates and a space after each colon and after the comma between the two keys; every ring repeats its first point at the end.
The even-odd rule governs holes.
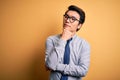
{"type": "Polygon", "coordinates": [[[46,66],[52,70],[56,70],[56,66],[62,63],[66,41],[58,39],[57,41],[49,37],[46,40],[46,66]]]}

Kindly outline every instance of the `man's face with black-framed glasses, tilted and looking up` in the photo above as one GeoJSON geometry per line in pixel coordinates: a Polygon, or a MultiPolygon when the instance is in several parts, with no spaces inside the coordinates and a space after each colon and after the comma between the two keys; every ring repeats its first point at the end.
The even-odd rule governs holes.
{"type": "Polygon", "coordinates": [[[80,16],[76,11],[68,11],[63,18],[63,28],[71,32],[76,32],[80,28],[80,16]]]}

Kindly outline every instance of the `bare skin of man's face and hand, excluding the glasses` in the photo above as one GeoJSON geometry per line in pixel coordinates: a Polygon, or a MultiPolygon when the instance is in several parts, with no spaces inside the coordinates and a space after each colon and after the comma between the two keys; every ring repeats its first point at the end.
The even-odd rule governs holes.
{"type": "MultiPolygon", "coordinates": [[[[76,11],[68,11],[67,15],[74,16],[76,19],[80,19],[79,14],[76,11]]],[[[78,28],[81,28],[81,24],[79,24],[79,21],[75,21],[73,23],[70,23],[69,19],[65,20],[63,18],[63,32],[61,35],[61,39],[63,40],[68,40],[70,38],[72,38],[75,34],[76,34],[76,30],[78,28]]]]}

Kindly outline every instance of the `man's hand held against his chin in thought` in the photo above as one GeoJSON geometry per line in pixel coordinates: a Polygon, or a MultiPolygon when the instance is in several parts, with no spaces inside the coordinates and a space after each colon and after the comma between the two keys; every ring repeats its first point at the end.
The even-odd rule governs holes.
{"type": "Polygon", "coordinates": [[[70,38],[72,38],[72,36],[75,34],[75,32],[71,32],[67,29],[64,29],[61,35],[61,39],[63,40],[69,40],[70,38]]]}

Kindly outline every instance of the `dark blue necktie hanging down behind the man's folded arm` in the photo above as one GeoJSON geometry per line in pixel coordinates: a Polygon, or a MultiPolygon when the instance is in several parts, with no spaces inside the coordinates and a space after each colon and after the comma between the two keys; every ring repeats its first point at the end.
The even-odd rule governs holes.
{"type": "MultiPolygon", "coordinates": [[[[72,38],[67,41],[66,46],[65,46],[64,62],[63,62],[64,64],[69,64],[69,60],[70,60],[69,43],[70,43],[71,40],[72,40],[72,38]]],[[[68,76],[67,75],[62,75],[61,80],[68,80],[68,76]]]]}

